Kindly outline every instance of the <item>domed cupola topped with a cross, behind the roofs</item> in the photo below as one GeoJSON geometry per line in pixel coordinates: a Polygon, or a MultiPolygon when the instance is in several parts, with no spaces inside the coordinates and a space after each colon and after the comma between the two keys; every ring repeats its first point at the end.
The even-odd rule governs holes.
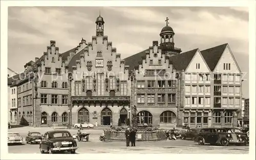
{"type": "Polygon", "coordinates": [[[161,50],[163,52],[171,52],[172,55],[177,55],[181,52],[180,48],[175,48],[174,47],[174,30],[172,27],[168,26],[168,20],[169,18],[166,17],[166,26],[163,27],[163,29],[161,30],[160,35],[160,46],[161,46],[161,50]]]}

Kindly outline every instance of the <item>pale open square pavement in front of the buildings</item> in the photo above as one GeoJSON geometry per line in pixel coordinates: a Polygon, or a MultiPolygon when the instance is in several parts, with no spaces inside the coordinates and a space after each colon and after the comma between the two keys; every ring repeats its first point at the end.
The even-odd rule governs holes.
{"type": "MultiPolygon", "coordinates": [[[[39,131],[41,133],[51,128],[30,128],[30,131],[39,131]]],[[[18,131],[25,139],[28,130],[26,128],[13,128],[8,131],[18,131]]],[[[136,142],[136,147],[126,147],[125,142],[101,142],[99,135],[102,130],[84,129],[91,133],[89,142],[77,142],[77,153],[223,153],[223,154],[248,154],[249,146],[199,146],[197,143],[188,140],[176,141],[158,141],[158,142],[136,142]]],[[[70,130],[71,134],[75,134],[77,130],[70,130]]],[[[40,153],[38,144],[26,144],[22,146],[8,146],[9,153],[40,153]]]]}

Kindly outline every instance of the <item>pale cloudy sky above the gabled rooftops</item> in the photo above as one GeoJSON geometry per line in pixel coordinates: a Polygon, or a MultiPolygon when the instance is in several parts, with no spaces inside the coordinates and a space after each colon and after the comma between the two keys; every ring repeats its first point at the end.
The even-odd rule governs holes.
{"type": "Polygon", "coordinates": [[[99,13],[104,35],[121,59],[160,41],[166,17],[175,32],[175,47],[182,51],[228,43],[245,72],[243,97],[249,97],[249,17],[244,7],[9,7],[8,67],[23,72],[27,62],[42,56],[50,40],[56,41],[60,53],[82,38],[91,42],[99,13]]]}

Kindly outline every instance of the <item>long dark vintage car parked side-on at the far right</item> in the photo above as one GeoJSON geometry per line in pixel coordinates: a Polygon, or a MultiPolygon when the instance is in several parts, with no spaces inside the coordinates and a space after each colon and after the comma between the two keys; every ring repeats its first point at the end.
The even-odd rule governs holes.
{"type": "Polygon", "coordinates": [[[224,132],[222,128],[201,128],[195,141],[199,145],[209,143],[210,145],[243,144],[244,141],[237,138],[234,133],[224,132]],[[221,131],[222,130],[222,131],[221,131]]]}

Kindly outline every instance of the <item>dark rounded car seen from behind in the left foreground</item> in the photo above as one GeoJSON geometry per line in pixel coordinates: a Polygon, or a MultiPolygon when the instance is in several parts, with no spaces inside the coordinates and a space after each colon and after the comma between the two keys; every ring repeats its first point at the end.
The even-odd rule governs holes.
{"type": "Polygon", "coordinates": [[[58,151],[71,151],[72,154],[78,149],[76,141],[68,130],[47,131],[39,145],[41,153],[54,153],[58,151]]]}

